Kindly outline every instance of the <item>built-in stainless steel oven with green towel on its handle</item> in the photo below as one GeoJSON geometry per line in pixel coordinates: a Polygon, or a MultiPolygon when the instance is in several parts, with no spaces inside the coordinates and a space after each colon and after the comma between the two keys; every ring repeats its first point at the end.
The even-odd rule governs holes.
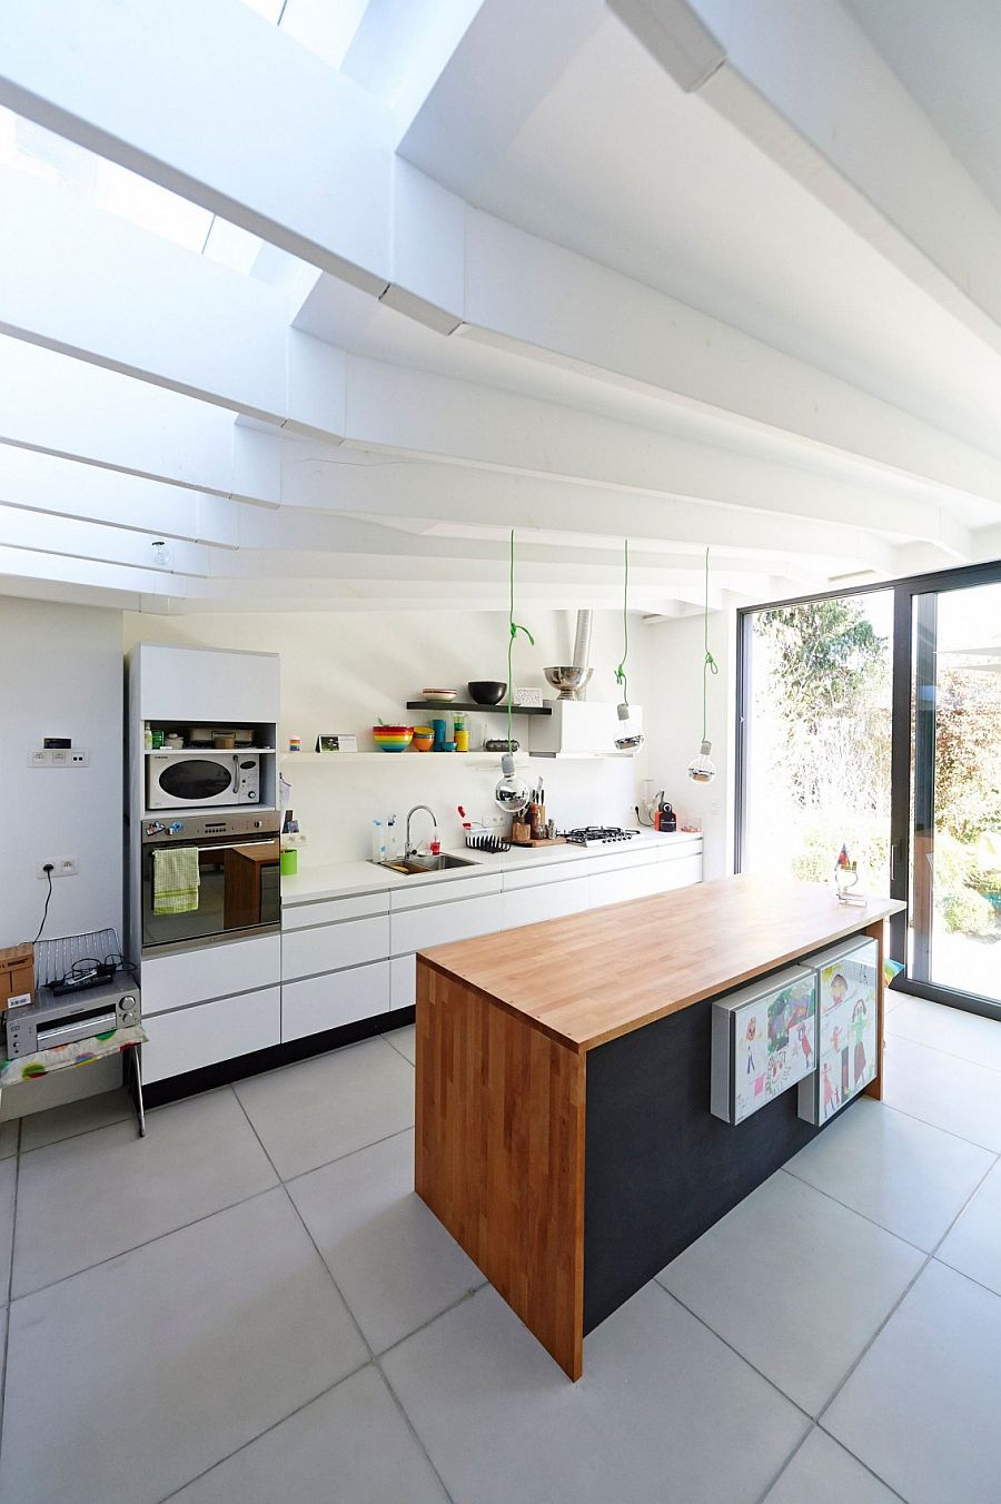
{"type": "Polygon", "coordinates": [[[277,811],[147,815],[141,850],[143,951],[278,929],[277,811]]]}

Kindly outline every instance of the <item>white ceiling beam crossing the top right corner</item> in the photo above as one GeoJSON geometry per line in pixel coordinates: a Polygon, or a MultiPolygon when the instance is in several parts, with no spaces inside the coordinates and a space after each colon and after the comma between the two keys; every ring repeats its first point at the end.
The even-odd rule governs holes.
{"type": "Polygon", "coordinates": [[[609,0],[687,90],[1001,350],[1001,218],[839,0],[609,0]]]}

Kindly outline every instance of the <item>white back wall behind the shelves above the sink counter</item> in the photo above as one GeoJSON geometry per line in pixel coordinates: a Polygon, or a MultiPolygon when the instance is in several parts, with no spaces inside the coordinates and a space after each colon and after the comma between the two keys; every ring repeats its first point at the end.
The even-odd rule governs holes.
{"type": "MultiPolygon", "coordinates": [[[[570,662],[573,612],[517,611],[535,636],[535,648],[519,636],[514,683],[546,686],[543,669],[570,662]]],[[[595,666],[589,698],[618,701],[615,665],[621,657],[622,621],[616,612],[595,612],[591,660],[595,666]]],[[[407,699],[425,686],[464,690],[470,678],[507,678],[507,617],[499,612],[302,612],[206,614],[174,618],[125,614],[125,648],[134,642],[249,648],[281,654],[281,746],[299,735],[311,749],[320,731],[353,731],[359,749],[371,746],[371,726],[413,723],[424,711],[407,711],[407,699]]],[[[645,702],[648,633],[631,633],[630,698],[645,702]]],[[[482,723],[482,717],[473,717],[482,723]]],[[[514,735],[526,746],[529,717],[516,717],[514,735]]],[[[504,720],[490,717],[488,735],[504,735],[504,720]]],[[[478,741],[473,741],[476,746],[478,741]]],[[[499,763],[499,760],[497,760],[499,763]]],[[[546,802],[561,827],[589,823],[634,824],[637,781],[645,773],[645,749],[637,760],[588,763],[534,761],[525,776],[541,773],[546,802]]],[[[410,754],[385,754],[385,766],[347,761],[289,767],[293,808],[307,833],[301,866],[367,857],[373,818],[406,817],[415,803],[428,803],[446,845],[461,841],[457,805],[467,815],[496,814],[493,787],[499,767],[475,769],[410,754]]],[[[427,817],[419,817],[421,820],[427,817]]],[[[415,820],[415,832],[416,832],[415,820]]]]}

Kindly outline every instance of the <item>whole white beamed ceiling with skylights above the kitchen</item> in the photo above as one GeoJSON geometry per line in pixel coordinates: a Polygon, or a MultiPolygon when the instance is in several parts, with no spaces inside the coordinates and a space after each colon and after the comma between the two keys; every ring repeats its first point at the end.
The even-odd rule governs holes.
{"type": "MultiPolygon", "coordinates": [[[[661,17],[679,11],[643,3],[661,17]]],[[[837,0],[810,3],[818,24],[839,12],[837,0]]],[[[59,352],[39,393],[51,399],[51,415],[26,406],[21,418],[8,406],[0,423],[0,552],[5,569],[17,575],[9,562],[20,561],[39,591],[62,579],[74,599],[104,590],[147,609],[430,606],[448,602],[442,585],[464,590],[479,570],[479,599],[496,609],[513,522],[534,588],[565,605],[613,599],[619,540],[630,535],[640,559],[634,603],[648,611],[697,606],[703,541],[718,558],[720,603],[1001,553],[1001,329],[996,341],[974,332],[918,274],[920,245],[908,274],[890,254],[888,233],[860,232],[855,185],[845,176],[831,193],[827,180],[842,171],[834,153],[812,167],[812,144],[795,137],[789,170],[795,120],[786,111],[776,123],[783,101],[770,126],[773,150],[768,132],[762,143],[761,131],[720,108],[718,92],[684,92],[600,0],[356,0],[337,9],[287,0],[284,14],[271,0],[218,0],[207,20],[195,0],[177,0],[132,18],[122,42],[132,51],[107,65],[117,80],[87,72],[102,66],[111,0],[80,0],[81,38],[66,54],[75,72],[62,77],[59,59],[42,56],[48,50],[29,51],[32,27],[44,35],[50,8],[62,9],[59,0],[12,0],[21,30],[8,63],[0,18],[0,105],[17,102],[33,113],[32,128],[63,132],[75,152],[114,156],[116,173],[141,170],[155,194],[170,188],[176,199],[183,190],[194,220],[216,215],[219,241],[233,230],[243,269],[251,236],[263,247],[246,292],[170,260],[152,232],[149,251],[129,239],[134,268],[113,277],[95,251],[87,277],[92,211],[83,205],[65,211],[74,226],[65,286],[45,283],[39,269],[36,290],[0,293],[0,326],[12,343],[59,352]],[[240,75],[219,74],[210,101],[192,90],[191,119],[161,152],[149,135],[159,60],[182,57],[185,44],[200,50],[206,69],[218,45],[219,59],[240,59],[240,75]],[[95,51],[84,56],[87,45],[95,51]],[[128,93],[123,72],[135,84],[128,93]],[[240,89],[257,98],[254,78],[260,122],[248,147],[236,101],[240,89]],[[362,92],[368,102],[358,108],[362,92]],[[290,155],[299,104],[325,93],[341,110],[335,126],[311,129],[304,117],[295,137],[304,144],[290,155]],[[383,202],[385,143],[400,137],[383,202]],[[256,171],[245,170],[248,156],[256,171]],[[493,247],[511,235],[520,260],[505,286],[493,247]],[[574,253],[565,281],[561,248],[574,253]],[[478,260],[484,254],[494,260],[478,260]],[[618,281],[600,281],[606,272],[618,281]],[[74,278],[96,305],[107,296],[104,320],[78,316],[74,278]],[[601,287],[600,316],[580,290],[592,283],[601,287]],[[194,311],[198,299],[204,319],[194,311]],[[470,313],[487,305],[490,316],[470,313]],[[649,308],[646,322],[637,308],[649,308]],[[143,328],[149,320],[150,340],[147,349],[134,340],[126,358],[123,341],[138,326],[131,310],[141,311],[143,328]],[[271,320],[268,329],[262,322],[259,350],[281,349],[283,323],[295,331],[287,371],[259,371],[236,355],[227,368],[225,329],[242,325],[246,334],[253,317],[271,320]],[[302,344],[302,335],[311,338],[302,344]],[[143,405],[149,456],[141,424],[126,432],[123,421],[116,432],[114,409],[90,402],[95,367],[155,390],[143,405]],[[197,439],[191,403],[210,405],[197,439]],[[237,427],[227,454],[230,414],[237,427]],[[65,456],[69,468],[57,483],[39,472],[29,484],[20,466],[3,489],[3,445],[65,456]],[[159,487],[144,493],[149,523],[137,523],[116,487],[102,514],[92,490],[72,480],[81,463],[159,487]],[[177,486],[230,508],[213,511],[218,537],[200,522],[174,525],[177,486]],[[44,513],[80,519],[80,532],[63,532],[72,547],[53,543],[44,513]],[[156,526],[191,544],[177,552],[183,567],[167,575],[147,552],[156,526]],[[412,578],[415,561],[427,590],[412,578]]],[[[720,6],[691,0],[696,20],[700,11],[720,6]]],[[[843,0],[839,21],[848,14],[957,167],[1001,208],[995,8],[843,0]]],[[[782,30],[782,8],[762,26],[774,27],[773,51],[801,45],[782,30]]],[[[168,90],[162,104],[168,114],[168,90]]],[[[879,113],[863,123],[878,156],[879,113]]],[[[890,214],[879,203],[870,209],[890,214]]],[[[108,244],[102,226],[95,217],[95,247],[108,244]]],[[[51,248],[44,272],[60,277],[51,248]]],[[[243,344],[233,338],[231,349],[243,344]]],[[[24,393],[14,365],[11,385],[24,393]]]]}

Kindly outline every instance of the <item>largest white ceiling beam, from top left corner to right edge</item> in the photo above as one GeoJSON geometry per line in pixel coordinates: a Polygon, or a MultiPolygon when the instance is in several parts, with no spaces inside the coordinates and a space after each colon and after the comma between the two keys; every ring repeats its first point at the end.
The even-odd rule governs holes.
{"type": "MultiPolygon", "coordinates": [[[[8,0],[0,101],[442,332],[1001,499],[1001,465],[663,293],[463,206],[388,111],[240,0],[8,0]],[[239,68],[233,66],[239,57],[239,68]],[[185,78],[185,108],[176,78],[185,78]],[[290,171],[289,164],[296,170],[290,171]],[[322,182],[325,193],[316,193],[322,182]]],[[[337,433],[326,406],[310,432],[337,433]]]]}

